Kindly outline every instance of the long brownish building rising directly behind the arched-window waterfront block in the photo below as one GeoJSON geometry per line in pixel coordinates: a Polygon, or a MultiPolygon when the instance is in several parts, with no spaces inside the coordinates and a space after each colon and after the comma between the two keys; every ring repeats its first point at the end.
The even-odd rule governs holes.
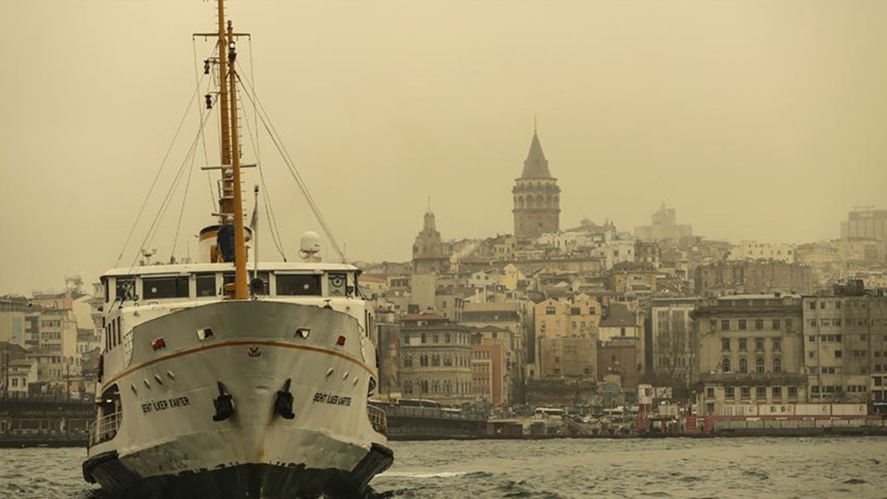
{"type": "Polygon", "coordinates": [[[812,267],[773,260],[719,261],[695,269],[696,294],[811,293],[812,267]]]}

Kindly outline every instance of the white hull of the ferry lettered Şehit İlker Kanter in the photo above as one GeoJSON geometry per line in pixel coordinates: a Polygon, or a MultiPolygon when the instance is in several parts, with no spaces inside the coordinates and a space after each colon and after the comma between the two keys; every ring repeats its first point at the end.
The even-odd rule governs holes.
{"type": "Polygon", "coordinates": [[[391,463],[367,412],[374,347],[349,313],[223,301],[145,321],[130,337],[104,384],[119,390],[122,416],[106,434],[98,425],[83,464],[112,494],[355,497],[391,463]],[[280,391],[292,394],[292,419],[276,408],[280,391]],[[216,421],[220,393],[233,412],[216,421]]]}

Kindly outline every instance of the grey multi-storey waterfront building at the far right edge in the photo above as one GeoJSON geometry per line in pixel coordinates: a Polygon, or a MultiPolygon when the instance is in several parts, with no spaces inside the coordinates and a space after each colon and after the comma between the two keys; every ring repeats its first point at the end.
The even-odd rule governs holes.
{"type": "MultiPolygon", "coordinates": [[[[859,283],[858,283],[859,284],[859,283]]],[[[804,298],[804,359],[812,401],[868,403],[887,373],[887,296],[836,286],[804,298]]]]}

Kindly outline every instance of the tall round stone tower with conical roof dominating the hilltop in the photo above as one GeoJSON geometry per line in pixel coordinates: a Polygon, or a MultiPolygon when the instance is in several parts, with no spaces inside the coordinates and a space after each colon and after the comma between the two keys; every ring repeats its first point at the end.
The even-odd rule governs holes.
{"type": "Polygon", "coordinates": [[[514,235],[518,239],[534,239],[560,229],[561,187],[548,171],[548,160],[535,130],[530,154],[523,162],[523,173],[514,180],[511,192],[514,194],[514,235]]]}

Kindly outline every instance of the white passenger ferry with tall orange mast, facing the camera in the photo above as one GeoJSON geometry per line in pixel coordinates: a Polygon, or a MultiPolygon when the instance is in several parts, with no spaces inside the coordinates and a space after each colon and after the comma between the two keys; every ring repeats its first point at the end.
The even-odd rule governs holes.
{"type": "Polygon", "coordinates": [[[221,172],[198,263],[101,277],[105,345],[83,477],[113,497],[360,497],[393,460],[360,271],[247,262],[236,43],[217,3],[221,172]],[[250,274],[252,278],[250,279],[250,274]]]}

